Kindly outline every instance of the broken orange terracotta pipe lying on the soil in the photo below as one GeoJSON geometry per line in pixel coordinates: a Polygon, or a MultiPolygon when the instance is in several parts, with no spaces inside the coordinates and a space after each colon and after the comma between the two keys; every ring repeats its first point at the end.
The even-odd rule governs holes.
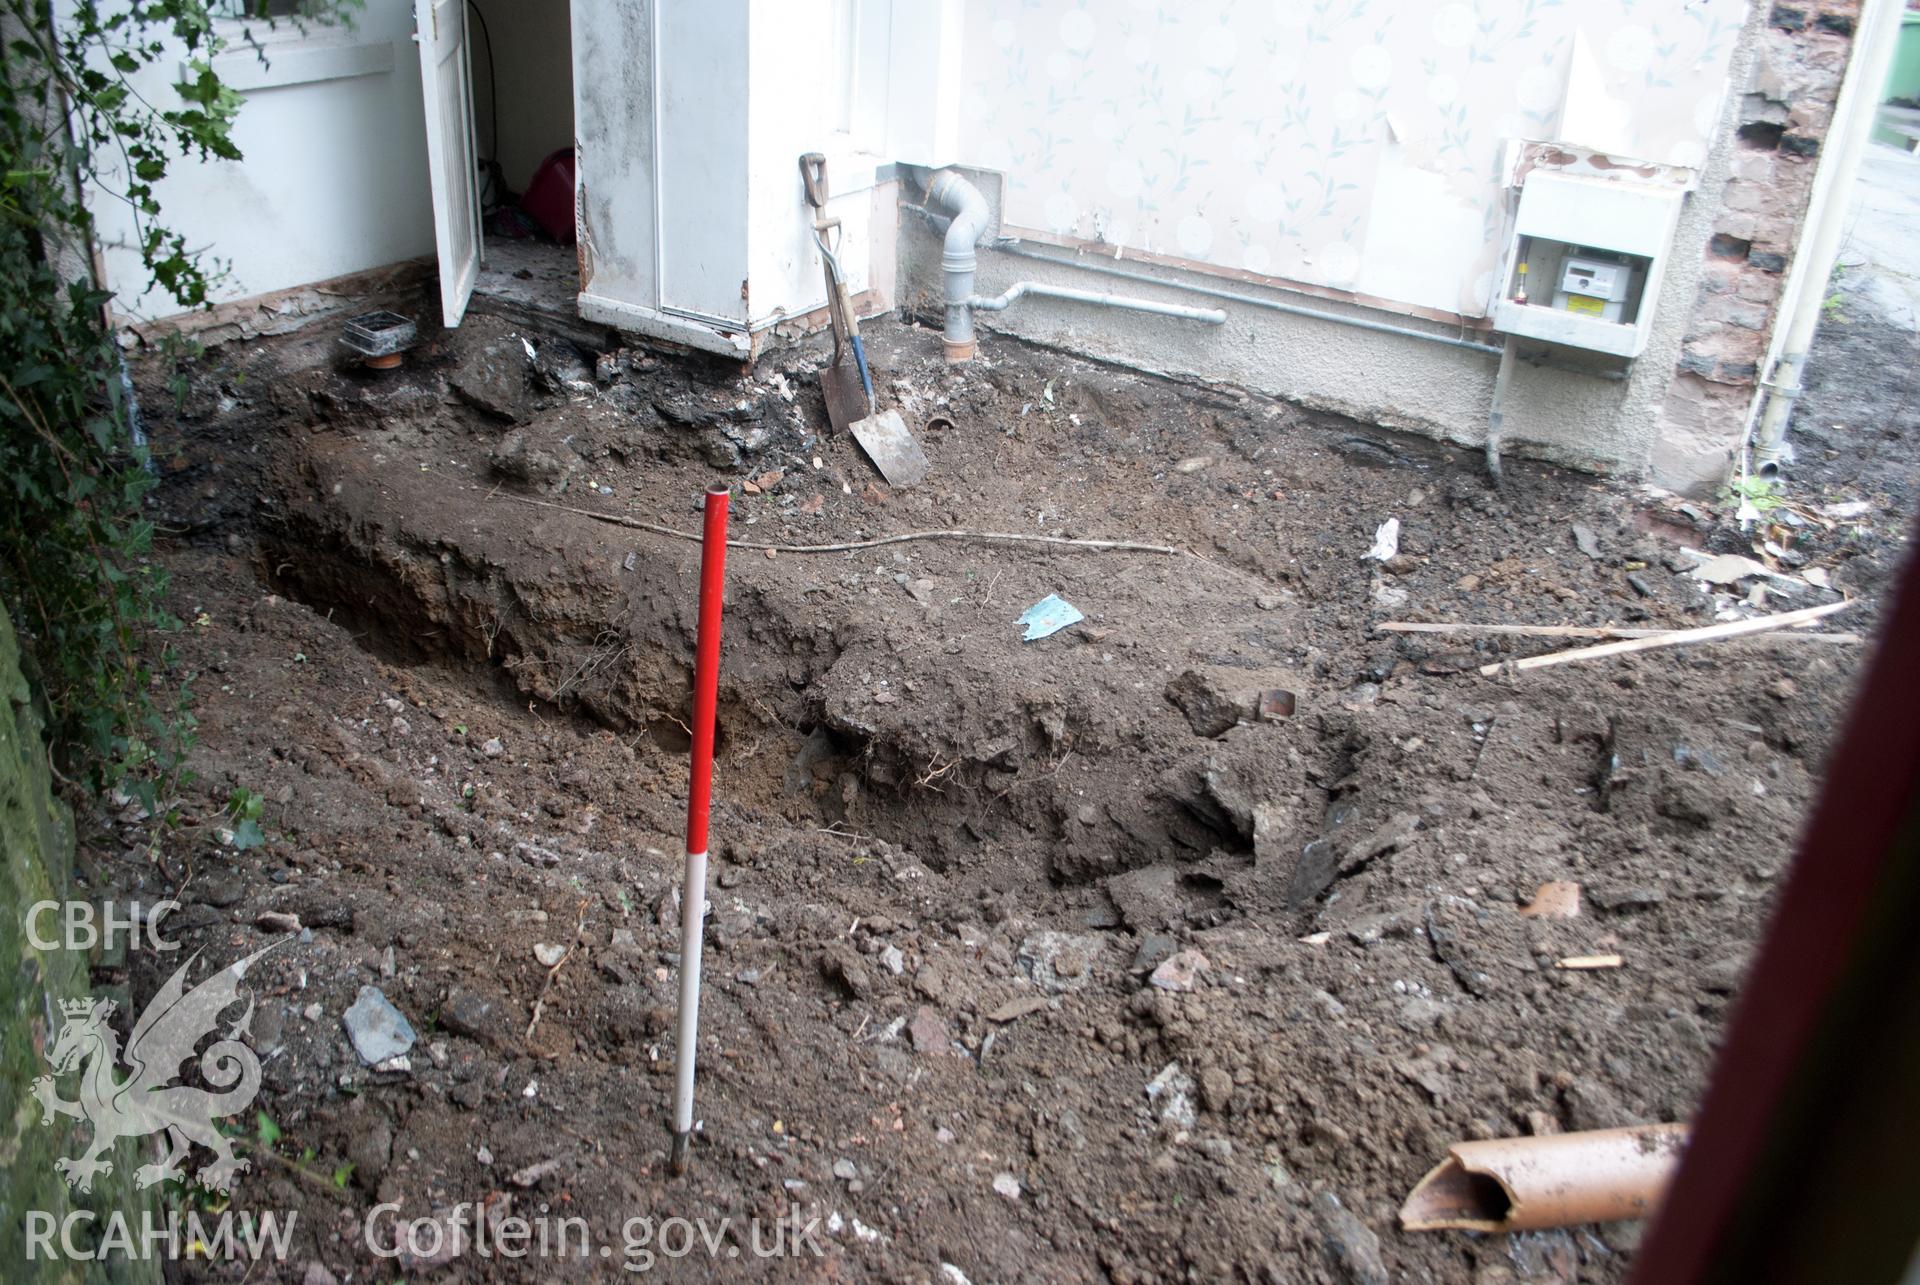
{"type": "Polygon", "coordinates": [[[1453,1143],[1400,1206],[1407,1231],[1534,1231],[1645,1218],[1680,1164],[1688,1126],[1453,1143]]]}

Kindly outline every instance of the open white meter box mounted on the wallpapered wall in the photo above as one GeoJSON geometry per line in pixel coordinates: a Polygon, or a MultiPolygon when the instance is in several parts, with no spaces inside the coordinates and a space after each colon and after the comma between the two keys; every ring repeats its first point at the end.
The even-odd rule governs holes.
{"type": "Polygon", "coordinates": [[[1494,325],[1505,334],[1638,357],[1686,192],[1536,169],[1521,184],[1494,325]],[[1521,273],[1521,265],[1526,273],[1521,273]],[[1546,298],[1517,300],[1538,282],[1546,298]]]}

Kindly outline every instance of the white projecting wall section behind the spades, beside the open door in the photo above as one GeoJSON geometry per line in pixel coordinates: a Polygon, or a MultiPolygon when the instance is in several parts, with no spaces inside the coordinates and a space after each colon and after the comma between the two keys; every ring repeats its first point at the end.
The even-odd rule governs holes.
{"type": "Polygon", "coordinates": [[[891,292],[881,161],[950,159],[958,60],[943,36],[958,12],[958,0],[576,6],[582,315],[745,353],[824,307],[804,152],[828,156],[849,290],[891,292]],[[899,158],[879,152],[895,144],[899,158]]]}

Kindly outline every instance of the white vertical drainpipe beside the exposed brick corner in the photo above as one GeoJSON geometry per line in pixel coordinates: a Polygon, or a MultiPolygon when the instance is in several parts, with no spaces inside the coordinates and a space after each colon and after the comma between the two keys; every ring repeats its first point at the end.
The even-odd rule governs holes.
{"type": "MultiPolygon", "coordinates": [[[[1820,169],[1812,181],[1807,227],[1801,232],[1799,252],[1793,255],[1793,269],[1782,292],[1782,317],[1768,346],[1764,378],[1755,392],[1755,400],[1764,398],[1761,428],[1753,442],[1753,465],[1761,473],[1776,471],[1788,455],[1788,417],[1801,392],[1807,350],[1820,327],[1826,282],[1834,275],[1834,259],[1839,257],[1853,182],[1860,173],[1860,156],[1866,152],[1874,113],[1880,109],[1880,86],[1887,81],[1887,63],[1893,58],[1893,42],[1899,36],[1905,10],[1905,0],[1866,0],[1860,10],[1853,58],[1847,60],[1847,75],[1834,106],[1834,123],[1826,133],[1830,146],[1824,148],[1820,169]]],[[[1741,473],[1745,473],[1745,461],[1741,461],[1741,473]]]]}

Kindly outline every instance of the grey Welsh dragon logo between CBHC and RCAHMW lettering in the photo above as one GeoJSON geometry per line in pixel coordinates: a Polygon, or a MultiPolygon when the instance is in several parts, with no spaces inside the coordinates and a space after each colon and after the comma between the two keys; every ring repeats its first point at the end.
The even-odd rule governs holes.
{"type": "Polygon", "coordinates": [[[69,999],[60,1005],[60,1039],[46,1055],[54,1072],[33,1081],[33,1095],[46,1110],[40,1124],[71,1116],[92,1126],[94,1135],[84,1154],[54,1162],[75,1191],[92,1191],[96,1176],[113,1172],[113,1160],[108,1158],[113,1143],[159,1131],[167,1133],[167,1152],[134,1170],[134,1185],[152,1187],[169,1177],[184,1177],[186,1156],[200,1143],[213,1151],[215,1160],[200,1166],[194,1177],[209,1191],[232,1191],[234,1179],[250,1164],[234,1156],[232,1143],[213,1122],[246,1110],[259,1093],[259,1058],[240,1043],[253,1018],[253,1001],[248,999],[246,1012],[198,1056],[200,1078],[219,1093],[171,1081],[194,1058],[194,1047],[219,1026],[221,1012],[240,1001],[246,970],[271,949],[269,945],[228,964],[188,991],[186,970],[200,958],[196,951],[134,1022],[125,1055],[119,1035],[108,1026],[113,1001],[69,999]],[[125,1079],[119,1076],[123,1060],[132,1072],[125,1079]],[[79,1099],[69,1103],[60,1097],[54,1081],[73,1070],[81,1072],[81,1083],[79,1099]]]}

